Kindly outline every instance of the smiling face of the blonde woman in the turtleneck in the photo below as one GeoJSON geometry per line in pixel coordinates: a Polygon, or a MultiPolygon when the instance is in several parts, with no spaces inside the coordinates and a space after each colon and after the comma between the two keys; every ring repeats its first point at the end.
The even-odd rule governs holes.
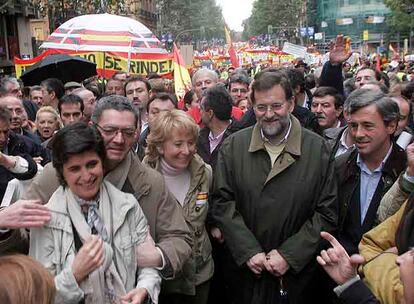
{"type": "Polygon", "coordinates": [[[171,167],[186,169],[196,153],[196,139],[189,132],[173,130],[160,152],[171,167]]]}

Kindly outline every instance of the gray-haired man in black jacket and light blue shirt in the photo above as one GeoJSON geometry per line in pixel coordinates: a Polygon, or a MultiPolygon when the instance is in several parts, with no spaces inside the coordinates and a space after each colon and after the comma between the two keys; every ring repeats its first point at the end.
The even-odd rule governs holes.
{"type": "Polygon", "coordinates": [[[348,97],[349,132],[356,150],[336,159],[340,206],[339,241],[358,252],[362,235],[375,223],[382,196],[406,167],[404,151],[393,143],[398,105],[381,92],[358,89],[348,97]]]}

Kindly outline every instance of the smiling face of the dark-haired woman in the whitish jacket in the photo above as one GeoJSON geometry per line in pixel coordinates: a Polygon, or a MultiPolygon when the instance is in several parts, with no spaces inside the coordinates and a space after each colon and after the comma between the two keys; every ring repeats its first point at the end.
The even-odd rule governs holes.
{"type": "Polygon", "coordinates": [[[95,151],[70,156],[63,164],[63,177],[75,195],[92,200],[102,183],[102,161],[95,151]]]}

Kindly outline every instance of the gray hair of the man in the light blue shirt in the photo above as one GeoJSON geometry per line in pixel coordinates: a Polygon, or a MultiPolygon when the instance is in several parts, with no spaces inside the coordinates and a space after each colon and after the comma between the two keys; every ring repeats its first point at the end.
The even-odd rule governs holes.
{"type": "Polygon", "coordinates": [[[363,87],[353,91],[348,96],[344,108],[347,113],[353,114],[370,105],[377,107],[385,124],[393,121],[398,122],[400,120],[400,110],[395,101],[380,91],[364,89],[363,87]]]}

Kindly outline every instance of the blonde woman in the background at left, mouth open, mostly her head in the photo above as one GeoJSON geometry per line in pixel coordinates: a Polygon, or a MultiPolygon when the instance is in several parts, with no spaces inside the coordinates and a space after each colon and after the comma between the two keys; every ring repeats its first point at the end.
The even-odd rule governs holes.
{"type": "Polygon", "coordinates": [[[59,114],[51,106],[41,107],[36,114],[36,134],[44,142],[62,128],[59,114]]]}

